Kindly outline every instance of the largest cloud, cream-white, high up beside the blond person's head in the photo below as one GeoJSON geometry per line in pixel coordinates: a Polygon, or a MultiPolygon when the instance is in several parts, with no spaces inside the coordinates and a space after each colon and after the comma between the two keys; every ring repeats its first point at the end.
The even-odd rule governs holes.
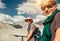
{"type": "Polygon", "coordinates": [[[42,11],[40,9],[40,6],[38,6],[36,3],[27,1],[23,4],[18,4],[18,8],[16,8],[18,11],[18,14],[41,14],[42,11]]]}

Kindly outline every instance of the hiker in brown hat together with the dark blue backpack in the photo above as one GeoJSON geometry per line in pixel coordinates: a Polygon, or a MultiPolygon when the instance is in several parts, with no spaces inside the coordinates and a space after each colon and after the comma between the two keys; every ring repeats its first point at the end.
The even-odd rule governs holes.
{"type": "Polygon", "coordinates": [[[33,24],[33,20],[31,18],[28,18],[28,19],[25,19],[25,22],[28,25],[28,28],[27,28],[28,36],[27,36],[26,41],[40,41],[39,39],[35,37],[35,35],[37,35],[38,33],[40,34],[40,32],[36,34],[35,30],[37,30],[38,28],[36,29],[36,26],[33,24]]]}

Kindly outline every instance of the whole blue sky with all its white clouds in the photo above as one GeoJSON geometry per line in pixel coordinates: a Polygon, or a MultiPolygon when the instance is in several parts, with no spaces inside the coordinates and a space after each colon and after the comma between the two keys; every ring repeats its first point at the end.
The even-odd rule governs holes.
{"type": "MultiPolygon", "coordinates": [[[[56,1],[60,9],[60,0],[56,1]]],[[[0,0],[0,21],[12,24],[23,22],[30,17],[34,22],[44,21],[47,18],[34,0],[0,0]]]]}

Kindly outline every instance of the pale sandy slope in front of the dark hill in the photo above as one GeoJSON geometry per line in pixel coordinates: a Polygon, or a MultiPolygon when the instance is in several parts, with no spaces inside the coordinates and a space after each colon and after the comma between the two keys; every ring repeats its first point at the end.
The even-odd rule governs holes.
{"type": "Polygon", "coordinates": [[[26,29],[26,27],[16,29],[10,24],[0,22],[0,41],[21,41],[21,35],[27,36],[26,29]]]}

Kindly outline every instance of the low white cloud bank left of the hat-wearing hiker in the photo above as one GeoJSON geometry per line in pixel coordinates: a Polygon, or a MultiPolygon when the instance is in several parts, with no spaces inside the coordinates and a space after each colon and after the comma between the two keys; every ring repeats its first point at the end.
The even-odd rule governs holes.
{"type": "Polygon", "coordinates": [[[10,16],[4,13],[0,13],[0,21],[4,22],[4,23],[9,23],[9,24],[13,24],[16,22],[23,22],[23,20],[25,19],[24,16],[21,15],[17,15],[17,16],[10,16]]]}

